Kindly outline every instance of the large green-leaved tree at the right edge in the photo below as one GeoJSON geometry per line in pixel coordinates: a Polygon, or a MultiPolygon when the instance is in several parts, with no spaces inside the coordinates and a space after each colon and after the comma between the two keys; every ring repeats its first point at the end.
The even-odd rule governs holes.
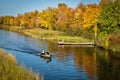
{"type": "Polygon", "coordinates": [[[105,45],[109,46],[109,37],[120,26],[120,1],[102,4],[102,11],[99,18],[99,29],[102,35],[106,37],[105,45]]]}

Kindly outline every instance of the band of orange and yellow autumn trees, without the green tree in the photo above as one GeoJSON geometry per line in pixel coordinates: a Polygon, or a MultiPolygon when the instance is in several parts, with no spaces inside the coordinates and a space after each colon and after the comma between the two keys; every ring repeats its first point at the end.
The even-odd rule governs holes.
{"type": "Polygon", "coordinates": [[[100,6],[96,4],[84,5],[80,3],[75,9],[65,3],[59,3],[57,8],[48,7],[42,12],[37,10],[18,14],[17,17],[1,16],[0,23],[23,28],[44,28],[58,30],[76,35],[83,28],[91,27],[96,23],[100,13],[100,6]],[[94,11],[93,11],[94,10],[94,11]],[[91,11],[92,13],[89,13],[91,11]]]}

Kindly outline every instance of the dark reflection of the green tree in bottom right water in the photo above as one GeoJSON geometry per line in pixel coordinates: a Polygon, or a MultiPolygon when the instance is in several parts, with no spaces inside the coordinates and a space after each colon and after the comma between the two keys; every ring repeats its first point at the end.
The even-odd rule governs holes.
{"type": "Polygon", "coordinates": [[[116,58],[112,54],[108,50],[99,49],[97,51],[99,80],[120,80],[120,58],[116,58]]]}

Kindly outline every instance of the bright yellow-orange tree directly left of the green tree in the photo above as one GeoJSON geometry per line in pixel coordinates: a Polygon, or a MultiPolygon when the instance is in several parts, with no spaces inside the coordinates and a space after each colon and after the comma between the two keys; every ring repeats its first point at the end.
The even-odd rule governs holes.
{"type": "MultiPolygon", "coordinates": [[[[83,15],[84,18],[84,29],[95,27],[97,24],[98,17],[100,15],[100,6],[96,4],[90,4],[87,6],[87,9],[83,15]]],[[[97,28],[94,28],[94,30],[97,30],[97,28]]]]}

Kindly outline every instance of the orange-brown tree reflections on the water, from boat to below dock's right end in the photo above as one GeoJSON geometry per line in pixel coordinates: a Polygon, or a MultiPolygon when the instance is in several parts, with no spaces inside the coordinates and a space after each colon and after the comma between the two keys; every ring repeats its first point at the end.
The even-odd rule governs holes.
{"type": "Polygon", "coordinates": [[[95,78],[96,54],[94,53],[94,48],[79,46],[55,46],[53,48],[49,47],[49,49],[55,50],[55,52],[57,52],[56,57],[59,59],[59,61],[69,62],[71,60],[69,56],[72,56],[78,71],[81,71],[81,67],[83,67],[88,73],[87,76],[89,79],[93,80],[95,78]]]}

